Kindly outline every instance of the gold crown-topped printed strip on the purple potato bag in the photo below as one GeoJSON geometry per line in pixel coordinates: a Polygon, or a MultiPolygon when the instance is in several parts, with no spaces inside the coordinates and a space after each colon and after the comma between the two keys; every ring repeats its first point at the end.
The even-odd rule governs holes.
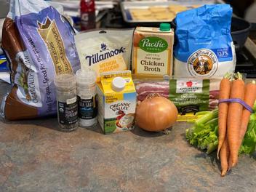
{"type": "Polygon", "coordinates": [[[60,32],[57,28],[55,20],[50,20],[47,17],[45,23],[37,23],[39,28],[38,32],[47,45],[49,53],[52,57],[52,63],[55,66],[55,72],[57,74],[71,72],[71,63],[65,55],[65,47],[63,39],[60,36],[60,32]]]}

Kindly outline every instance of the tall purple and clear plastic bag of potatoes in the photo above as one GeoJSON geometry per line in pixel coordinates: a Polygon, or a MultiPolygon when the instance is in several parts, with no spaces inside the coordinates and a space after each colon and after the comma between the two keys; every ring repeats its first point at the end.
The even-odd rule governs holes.
{"type": "Polygon", "coordinates": [[[73,28],[43,0],[12,0],[2,47],[11,63],[12,89],[1,103],[9,120],[56,114],[53,79],[80,68],[73,28]]]}

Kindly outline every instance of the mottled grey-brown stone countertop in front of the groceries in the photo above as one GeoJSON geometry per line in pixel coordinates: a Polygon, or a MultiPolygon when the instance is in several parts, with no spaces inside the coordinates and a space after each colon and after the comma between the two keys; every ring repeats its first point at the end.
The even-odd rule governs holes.
{"type": "Polygon", "coordinates": [[[103,135],[59,132],[55,118],[0,121],[0,191],[256,191],[256,159],[220,177],[216,154],[185,140],[188,126],[103,135]]]}

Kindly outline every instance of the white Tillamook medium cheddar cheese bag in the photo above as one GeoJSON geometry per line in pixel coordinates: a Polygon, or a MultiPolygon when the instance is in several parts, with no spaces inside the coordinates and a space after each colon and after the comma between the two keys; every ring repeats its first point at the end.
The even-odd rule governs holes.
{"type": "Polygon", "coordinates": [[[97,73],[123,71],[131,63],[133,29],[100,30],[75,36],[81,68],[92,68],[97,73]]]}

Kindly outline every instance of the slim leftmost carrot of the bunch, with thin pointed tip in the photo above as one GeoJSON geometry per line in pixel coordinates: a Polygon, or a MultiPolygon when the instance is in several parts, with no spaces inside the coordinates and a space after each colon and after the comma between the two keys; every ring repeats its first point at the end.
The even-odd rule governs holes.
{"type": "MultiPolygon", "coordinates": [[[[227,74],[224,76],[224,78],[220,81],[220,96],[219,99],[229,99],[229,96],[231,94],[231,81],[230,81],[230,75],[227,74]]],[[[219,153],[220,148],[223,145],[223,142],[225,140],[225,133],[227,129],[227,116],[228,116],[228,103],[220,103],[219,104],[219,129],[218,129],[218,137],[219,137],[219,143],[217,145],[217,159],[219,159],[219,153]]]]}

